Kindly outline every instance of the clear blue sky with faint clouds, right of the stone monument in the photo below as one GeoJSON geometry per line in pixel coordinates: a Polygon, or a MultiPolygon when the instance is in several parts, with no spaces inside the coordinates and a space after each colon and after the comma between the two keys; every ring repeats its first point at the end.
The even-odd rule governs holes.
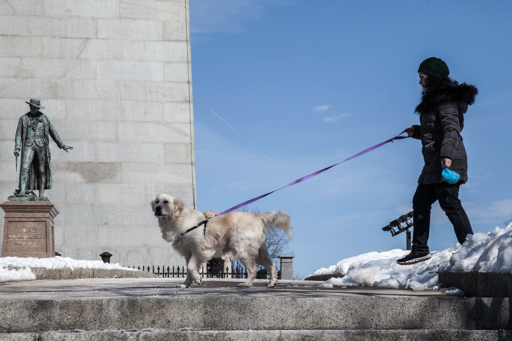
{"type": "MultiPolygon", "coordinates": [[[[512,2],[190,0],[198,208],[223,211],[418,123],[418,65],[436,56],[479,89],[465,115],[473,230],[512,216],[512,2]]],[[[292,219],[307,276],[405,248],[381,230],[412,210],[421,144],[405,139],[250,205],[292,219]]],[[[456,243],[434,204],[429,246],[456,243]]]]}

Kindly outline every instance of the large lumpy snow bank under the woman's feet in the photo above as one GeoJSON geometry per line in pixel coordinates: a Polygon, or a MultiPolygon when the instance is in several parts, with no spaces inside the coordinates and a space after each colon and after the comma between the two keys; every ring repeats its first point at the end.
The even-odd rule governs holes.
{"type": "MultiPolygon", "coordinates": [[[[512,272],[512,223],[505,229],[496,228],[488,234],[477,231],[441,252],[431,252],[432,258],[413,265],[398,265],[396,260],[409,251],[393,249],[370,252],[339,261],[336,265],[316,270],[314,275],[339,274],[326,284],[339,286],[379,286],[389,289],[439,289],[436,271],[512,272]]],[[[457,294],[456,292],[454,294],[457,294]]]]}

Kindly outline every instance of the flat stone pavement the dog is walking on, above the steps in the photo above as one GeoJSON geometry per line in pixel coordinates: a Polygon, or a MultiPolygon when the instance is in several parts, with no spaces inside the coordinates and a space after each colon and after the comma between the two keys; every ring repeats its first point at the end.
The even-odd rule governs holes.
{"type": "Polygon", "coordinates": [[[180,278],[106,278],[75,280],[37,280],[7,282],[0,285],[0,301],[38,299],[123,299],[123,298],[342,298],[342,297],[444,297],[440,290],[386,290],[376,287],[323,288],[323,281],[279,280],[268,289],[268,280],[255,280],[251,288],[238,288],[242,279],[207,278],[203,285],[177,288],[180,278]]]}

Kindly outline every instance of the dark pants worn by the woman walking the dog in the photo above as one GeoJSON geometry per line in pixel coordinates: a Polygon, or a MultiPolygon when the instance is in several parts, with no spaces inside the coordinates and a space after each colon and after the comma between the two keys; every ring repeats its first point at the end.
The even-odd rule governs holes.
{"type": "Polygon", "coordinates": [[[413,197],[413,246],[416,253],[429,253],[430,212],[432,204],[439,200],[439,206],[450,222],[459,243],[466,240],[468,234],[473,234],[470,220],[459,200],[459,184],[438,183],[419,184],[413,197]]]}

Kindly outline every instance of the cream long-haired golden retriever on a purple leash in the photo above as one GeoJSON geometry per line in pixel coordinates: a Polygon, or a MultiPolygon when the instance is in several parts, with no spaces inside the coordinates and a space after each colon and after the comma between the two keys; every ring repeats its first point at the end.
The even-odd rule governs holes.
{"type": "Polygon", "coordinates": [[[217,212],[189,209],[181,200],[168,193],[159,194],[151,202],[151,208],[158,218],[163,239],[172,243],[187,262],[187,278],[179,287],[189,287],[192,281],[201,285],[201,265],[213,257],[229,253],[238,258],[247,270],[247,280],[240,283],[239,287],[252,286],[257,263],[270,274],[268,286],[275,286],[278,276],[265,245],[266,231],[279,228],[293,239],[290,216],[283,211],[261,214],[232,211],[185,233],[217,212]]]}

